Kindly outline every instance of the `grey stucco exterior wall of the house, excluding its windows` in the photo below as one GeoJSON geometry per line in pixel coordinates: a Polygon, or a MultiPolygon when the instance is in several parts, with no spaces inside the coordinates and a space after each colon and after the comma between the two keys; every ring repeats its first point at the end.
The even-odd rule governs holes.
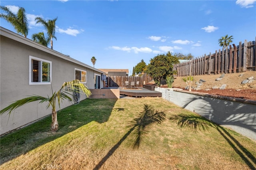
{"type": "MultiPolygon", "coordinates": [[[[20,38],[21,41],[28,41],[29,45],[2,36],[2,33],[4,32],[1,30],[0,109],[10,105],[13,101],[29,95],[51,96],[52,89],[53,91],[58,91],[65,81],[75,79],[75,68],[86,71],[85,85],[89,89],[94,89],[94,73],[102,74],[102,72],[96,69],[93,70],[90,67],[85,67],[85,64],[73,62],[72,59],[57,51],[42,47],[42,45],[30,42],[30,40],[26,40],[23,37],[20,38],[19,35],[17,39],[20,38]],[[55,53],[56,55],[54,55],[55,53]],[[51,85],[29,85],[29,56],[52,61],[52,87],[51,85]]],[[[102,86],[103,82],[101,82],[102,86]]],[[[80,100],[83,99],[86,99],[86,95],[81,95],[80,100]]],[[[51,108],[46,109],[46,105],[47,103],[34,102],[15,109],[10,117],[7,113],[4,113],[0,116],[0,134],[2,135],[51,114],[51,108]]],[[[63,101],[61,109],[70,105],[72,105],[70,101],[63,101]]],[[[57,107],[56,109],[59,108],[57,107]]]]}

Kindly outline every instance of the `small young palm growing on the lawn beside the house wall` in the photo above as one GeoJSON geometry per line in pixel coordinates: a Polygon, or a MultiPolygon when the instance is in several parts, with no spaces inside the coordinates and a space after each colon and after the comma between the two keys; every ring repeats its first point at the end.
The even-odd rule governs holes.
{"type": "MultiPolygon", "coordinates": [[[[52,125],[51,125],[51,130],[56,131],[58,130],[58,121],[57,121],[57,112],[56,112],[56,99],[58,99],[58,105],[60,108],[60,102],[64,99],[68,99],[72,101],[72,98],[70,96],[73,96],[74,94],[79,93],[80,94],[80,89],[84,94],[86,94],[87,97],[92,95],[91,91],[86,87],[83,83],[80,82],[80,80],[73,80],[69,82],[64,82],[63,85],[61,86],[59,91],[55,91],[53,93],[52,91],[52,96],[47,96],[47,97],[42,97],[38,95],[33,95],[26,97],[24,99],[20,99],[18,101],[15,101],[11,105],[7,106],[6,108],[2,109],[0,111],[0,115],[3,113],[8,112],[10,113],[15,110],[16,108],[25,105],[27,103],[33,102],[33,101],[40,101],[39,103],[43,102],[49,102],[47,105],[47,108],[50,106],[52,107],[52,125]]],[[[74,99],[75,100],[75,99],[74,99]]],[[[78,102],[76,102],[78,103],[78,102]]]]}

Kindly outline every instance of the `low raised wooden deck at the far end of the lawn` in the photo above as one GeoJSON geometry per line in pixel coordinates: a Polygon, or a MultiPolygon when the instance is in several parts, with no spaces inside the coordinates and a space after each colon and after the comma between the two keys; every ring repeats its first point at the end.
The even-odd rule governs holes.
{"type": "Polygon", "coordinates": [[[132,96],[132,97],[162,97],[162,93],[158,91],[151,91],[145,88],[139,89],[123,89],[120,87],[120,95],[132,96]]]}

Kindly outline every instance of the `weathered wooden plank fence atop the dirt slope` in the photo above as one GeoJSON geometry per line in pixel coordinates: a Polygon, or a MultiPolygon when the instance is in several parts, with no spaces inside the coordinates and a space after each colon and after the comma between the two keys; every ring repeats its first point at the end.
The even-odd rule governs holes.
{"type": "Polygon", "coordinates": [[[188,75],[204,75],[219,73],[235,73],[243,71],[256,71],[256,47],[255,42],[247,42],[247,40],[239,42],[222,51],[215,51],[196,59],[192,59],[183,63],[174,65],[178,77],[188,75]]]}

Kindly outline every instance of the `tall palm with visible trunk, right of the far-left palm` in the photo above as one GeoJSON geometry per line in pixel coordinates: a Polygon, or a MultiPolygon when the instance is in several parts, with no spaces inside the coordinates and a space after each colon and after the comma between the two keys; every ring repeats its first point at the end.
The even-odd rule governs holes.
{"type": "Polygon", "coordinates": [[[44,26],[44,29],[47,31],[47,35],[50,38],[50,42],[51,42],[51,49],[53,49],[52,38],[55,38],[55,40],[57,40],[57,38],[55,37],[55,28],[56,28],[55,22],[57,18],[55,18],[54,20],[48,20],[47,22],[41,17],[35,18],[36,24],[41,23],[44,26]]]}

